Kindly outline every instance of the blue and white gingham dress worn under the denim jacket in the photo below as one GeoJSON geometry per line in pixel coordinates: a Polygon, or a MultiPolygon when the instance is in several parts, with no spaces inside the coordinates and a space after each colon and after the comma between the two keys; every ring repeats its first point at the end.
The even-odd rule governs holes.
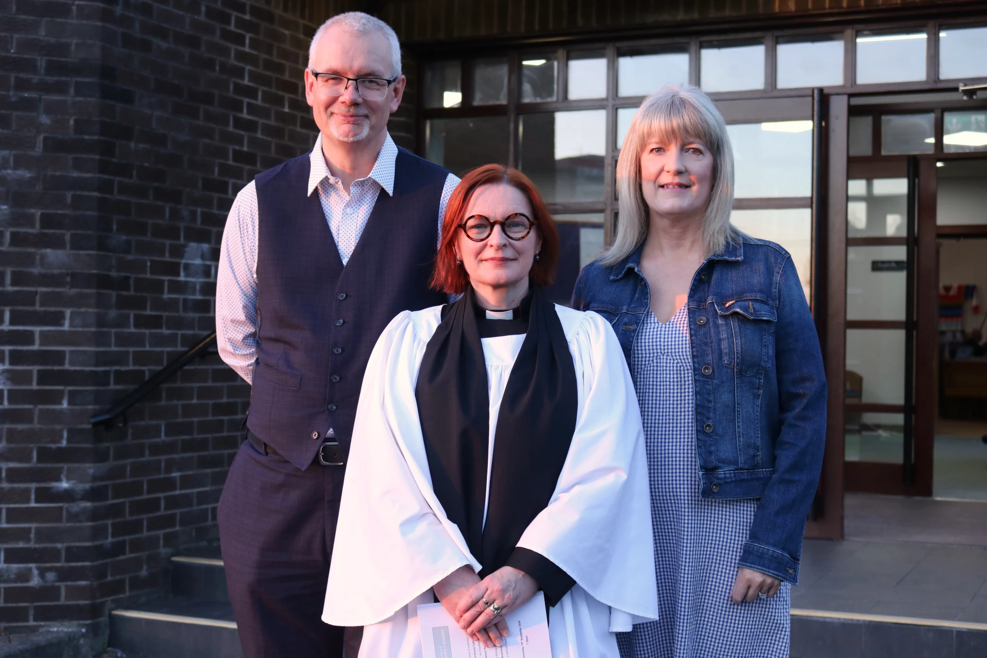
{"type": "Polygon", "coordinates": [[[739,606],[729,600],[757,501],[699,495],[685,307],[665,324],[646,314],[633,364],[645,424],[661,618],[618,635],[622,658],[787,657],[787,583],[772,599],[739,606]]]}

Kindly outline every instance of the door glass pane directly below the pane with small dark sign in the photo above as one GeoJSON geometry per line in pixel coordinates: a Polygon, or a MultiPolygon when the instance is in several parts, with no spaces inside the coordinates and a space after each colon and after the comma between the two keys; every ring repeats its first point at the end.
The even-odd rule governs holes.
{"type": "Polygon", "coordinates": [[[861,402],[901,404],[905,391],[905,330],[847,329],[847,370],[864,380],[861,402]]]}

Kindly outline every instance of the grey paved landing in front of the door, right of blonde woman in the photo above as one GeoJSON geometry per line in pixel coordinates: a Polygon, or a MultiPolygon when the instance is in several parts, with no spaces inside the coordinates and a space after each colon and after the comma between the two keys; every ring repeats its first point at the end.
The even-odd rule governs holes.
{"type": "Polygon", "coordinates": [[[844,525],[806,540],[793,608],[987,623],[987,503],[848,494],[844,525]]]}

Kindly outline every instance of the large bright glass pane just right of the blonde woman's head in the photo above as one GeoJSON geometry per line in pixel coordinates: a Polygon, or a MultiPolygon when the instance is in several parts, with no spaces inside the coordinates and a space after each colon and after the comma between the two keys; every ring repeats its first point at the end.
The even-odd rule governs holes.
{"type": "Polygon", "coordinates": [[[737,198],[812,194],[812,121],[726,126],[737,198]]]}

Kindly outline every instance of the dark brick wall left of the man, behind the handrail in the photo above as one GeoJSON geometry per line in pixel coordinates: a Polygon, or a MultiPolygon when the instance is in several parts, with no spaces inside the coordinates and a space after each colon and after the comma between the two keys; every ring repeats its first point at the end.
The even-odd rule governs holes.
{"type": "Polygon", "coordinates": [[[331,4],[0,0],[4,632],[102,634],[215,540],[231,370],[201,359],[125,427],[88,417],[213,330],[233,196],[314,138],[300,81],[331,4]]]}

